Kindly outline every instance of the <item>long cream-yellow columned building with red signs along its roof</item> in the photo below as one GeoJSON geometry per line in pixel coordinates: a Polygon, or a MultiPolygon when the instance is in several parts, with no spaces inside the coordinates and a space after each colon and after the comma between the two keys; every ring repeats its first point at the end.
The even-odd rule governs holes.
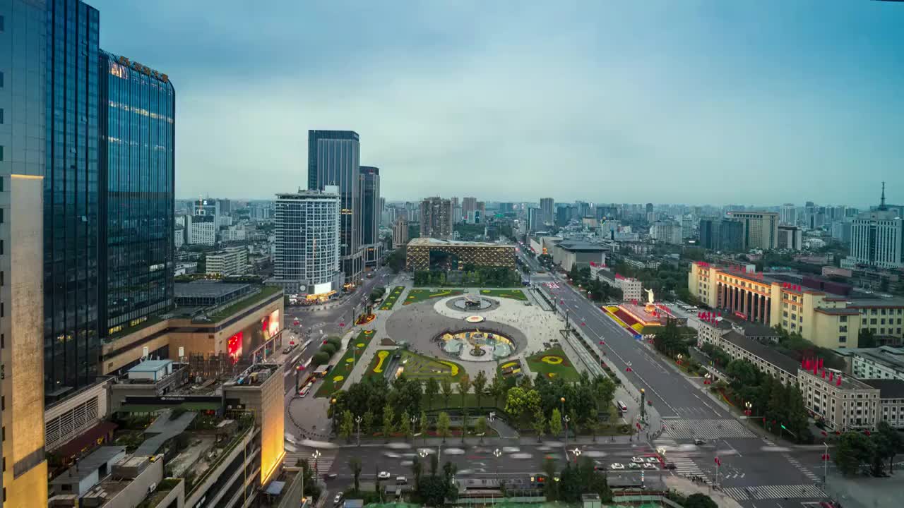
{"type": "MultiPolygon", "coordinates": [[[[779,326],[789,333],[801,334],[816,345],[830,348],[858,347],[858,336],[862,328],[870,328],[870,321],[863,321],[864,315],[871,318],[877,313],[877,324],[884,308],[884,321],[898,315],[890,315],[904,306],[892,308],[881,300],[856,300],[843,296],[833,296],[823,291],[796,286],[783,281],[764,277],[759,273],[743,269],[723,268],[705,262],[696,262],[688,274],[688,289],[693,296],[713,309],[756,323],[779,326]],[[864,314],[865,313],[865,314],[864,314]]],[[[877,328],[883,334],[901,336],[899,325],[877,328]]]]}

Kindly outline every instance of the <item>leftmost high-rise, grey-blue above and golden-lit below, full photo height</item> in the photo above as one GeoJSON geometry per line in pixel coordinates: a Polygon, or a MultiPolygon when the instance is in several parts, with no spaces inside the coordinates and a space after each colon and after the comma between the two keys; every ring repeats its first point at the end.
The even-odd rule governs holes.
{"type": "Polygon", "coordinates": [[[3,506],[47,506],[43,176],[47,10],[0,1],[0,424],[3,506]]]}

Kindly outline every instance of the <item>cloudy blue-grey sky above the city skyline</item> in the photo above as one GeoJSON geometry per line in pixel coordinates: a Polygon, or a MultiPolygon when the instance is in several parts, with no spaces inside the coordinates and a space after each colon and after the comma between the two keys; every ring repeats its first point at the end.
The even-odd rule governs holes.
{"type": "Polygon", "coordinates": [[[388,200],[904,202],[904,4],[87,0],[176,89],[176,196],[306,184],[361,136],[388,200]]]}

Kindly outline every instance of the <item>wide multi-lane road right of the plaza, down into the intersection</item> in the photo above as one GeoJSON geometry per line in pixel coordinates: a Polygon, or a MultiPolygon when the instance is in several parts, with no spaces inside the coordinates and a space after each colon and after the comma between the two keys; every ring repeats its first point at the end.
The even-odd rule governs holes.
{"type": "MultiPolygon", "coordinates": [[[[535,271],[543,269],[530,256],[522,259],[535,271]]],[[[678,466],[679,474],[705,475],[712,481],[716,476],[715,457],[719,456],[720,484],[733,489],[733,494],[744,494],[739,495],[743,504],[799,507],[801,502],[825,499],[817,495],[818,490],[810,490],[822,478],[822,447],[782,445],[776,439],[758,437],[747,423],[735,419],[709,397],[702,380],[678,372],[651,345],[635,339],[634,334],[617,325],[566,280],[558,274],[531,276],[532,284],[554,302],[556,312],[568,315],[572,324],[580,326],[598,350],[605,353],[614,369],[637,389],[645,389],[646,399],[652,402],[665,427],[664,435],[654,437],[650,445],[669,450],[666,459],[678,466]],[[631,372],[626,372],[628,367],[631,372]],[[704,444],[694,447],[692,443],[698,438],[704,444]],[[747,487],[758,499],[746,499],[747,487]]]]}

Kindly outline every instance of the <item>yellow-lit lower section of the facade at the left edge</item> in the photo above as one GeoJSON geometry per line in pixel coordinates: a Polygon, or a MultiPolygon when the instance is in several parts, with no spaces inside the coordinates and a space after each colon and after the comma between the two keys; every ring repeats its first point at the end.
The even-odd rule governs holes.
{"type": "Polygon", "coordinates": [[[43,390],[43,178],[0,175],[3,507],[47,506],[43,390]]]}

